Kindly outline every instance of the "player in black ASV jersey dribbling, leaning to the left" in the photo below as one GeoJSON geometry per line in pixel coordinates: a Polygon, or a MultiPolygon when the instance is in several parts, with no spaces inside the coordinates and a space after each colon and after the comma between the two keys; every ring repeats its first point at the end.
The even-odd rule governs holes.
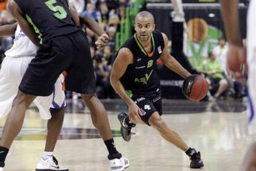
{"type": "Polygon", "coordinates": [[[155,30],[155,22],[150,12],[142,11],[135,17],[135,35],[129,38],[117,52],[111,71],[111,85],[129,108],[129,115],[118,115],[121,133],[129,141],[134,123],[146,123],[158,130],[169,143],[186,152],[190,157],[191,168],[203,167],[200,152],[189,148],[182,138],[170,130],[163,119],[160,77],[156,60],[183,78],[191,74],[184,69],[168,52],[168,38],[155,30]]]}

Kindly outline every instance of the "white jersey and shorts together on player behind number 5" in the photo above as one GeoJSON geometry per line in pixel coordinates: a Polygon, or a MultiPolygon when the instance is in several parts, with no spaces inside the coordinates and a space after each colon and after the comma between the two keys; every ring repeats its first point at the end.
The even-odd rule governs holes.
{"type": "MultiPolygon", "coordinates": [[[[6,52],[0,70],[0,119],[9,113],[19,90],[20,81],[28,64],[36,56],[38,47],[23,33],[19,25],[15,31],[14,46],[6,52]]],[[[42,119],[50,119],[49,108],[60,109],[66,106],[61,79],[54,85],[53,93],[47,97],[36,97],[33,101],[39,109],[42,119]]]]}

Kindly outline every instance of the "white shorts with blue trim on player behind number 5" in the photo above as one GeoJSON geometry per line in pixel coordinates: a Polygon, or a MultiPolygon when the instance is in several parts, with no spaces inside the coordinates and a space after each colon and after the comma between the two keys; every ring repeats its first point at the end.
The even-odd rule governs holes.
{"type": "MultiPolygon", "coordinates": [[[[20,81],[27,70],[33,57],[5,57],[0,70],[0,119],[11,110],[12,101],[19,90],[20,81]]],[[[66,106],[65,94],[62,91],[62,83],[59,78],[53,93],[47,97],[37,97],[34,101],[38,107],[42,119],[50,119],[49,108],[60,109],[66,106]]]]}

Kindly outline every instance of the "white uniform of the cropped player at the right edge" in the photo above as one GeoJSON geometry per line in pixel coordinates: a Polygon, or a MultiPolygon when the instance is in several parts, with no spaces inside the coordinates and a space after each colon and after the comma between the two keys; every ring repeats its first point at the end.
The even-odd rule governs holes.
{"type": "Polygon", "coordinates": [[[256,1],[250,1],[247,15],[247,64],[249,67],[248,86],[251,115],[256,110],[256,1]]]}

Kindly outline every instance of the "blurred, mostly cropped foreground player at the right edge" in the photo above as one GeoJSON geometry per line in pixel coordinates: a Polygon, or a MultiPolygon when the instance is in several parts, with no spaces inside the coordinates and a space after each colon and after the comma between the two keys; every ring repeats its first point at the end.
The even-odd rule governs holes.
{"type": "MultiPolygon", "coordinates": [[[[226,35],[228,36],[229,51],[227,56],[228,72],[237,80],[244,80],[244,75],[247,76],[249,88],[249,110],[250,120],[254,117],[256,109],[256,30],[255,30],[255,16],[256,16],[256,1],[252,0],[249,4],[247,14],[247,52],[245,56],[245,49],[242,46],[240,26],[239,26],[239,12],[238,0],[221,0],[222,16],[226,35]],[[248,65],[248,71],[247,71],[248,65]]],[[[242,170],[256,170],[256,143],[249,148],[242,170]]]]}

